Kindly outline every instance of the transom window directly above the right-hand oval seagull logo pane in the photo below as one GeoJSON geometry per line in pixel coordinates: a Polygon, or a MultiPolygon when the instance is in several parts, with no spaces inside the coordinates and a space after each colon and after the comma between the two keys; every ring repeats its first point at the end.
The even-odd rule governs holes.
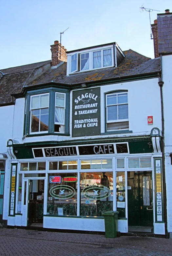
{"type": "Polygon", "coordinates": [[[112,159],[81,160],[81,169],[112,169],[112,159]]]}

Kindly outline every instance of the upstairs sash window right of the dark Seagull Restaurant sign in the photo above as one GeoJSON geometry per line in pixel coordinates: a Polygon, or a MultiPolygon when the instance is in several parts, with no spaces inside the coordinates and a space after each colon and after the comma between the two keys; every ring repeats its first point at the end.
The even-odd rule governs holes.
{"type": "Polygon", "coordinates": [[[129,128],[127,92],[106,95],[106,129],[129,128]]]}

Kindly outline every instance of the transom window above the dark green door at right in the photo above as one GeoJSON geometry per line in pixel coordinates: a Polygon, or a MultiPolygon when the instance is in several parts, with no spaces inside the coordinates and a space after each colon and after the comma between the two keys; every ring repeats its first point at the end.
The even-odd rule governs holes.
{"type": "Polygon", "coordinates": [[[128,158],[128,168],[150,168],[151,157],[128,158]]]}

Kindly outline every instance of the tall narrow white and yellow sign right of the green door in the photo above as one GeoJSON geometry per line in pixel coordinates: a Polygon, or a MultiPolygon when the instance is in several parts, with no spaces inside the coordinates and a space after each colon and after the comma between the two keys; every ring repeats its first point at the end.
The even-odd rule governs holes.
{"type": "Polygon", "coordinates": [[[156,160],[157,221],[162,221],[161,160],[156,160]]]}

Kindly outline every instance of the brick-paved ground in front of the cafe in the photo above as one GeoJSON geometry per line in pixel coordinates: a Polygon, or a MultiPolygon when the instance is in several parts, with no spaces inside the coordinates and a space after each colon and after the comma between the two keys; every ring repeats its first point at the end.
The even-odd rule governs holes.
{"type": "Polygon", "coordinates": [[[172,240],[0,229],[0,256],[172,256],[172,240]]]}

